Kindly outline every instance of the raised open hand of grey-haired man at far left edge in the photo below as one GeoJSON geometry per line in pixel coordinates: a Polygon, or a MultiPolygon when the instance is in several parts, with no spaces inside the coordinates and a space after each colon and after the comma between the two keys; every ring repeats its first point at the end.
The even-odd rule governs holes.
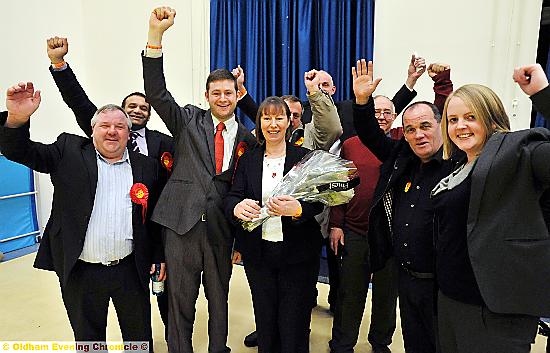
{"type": "Polygon", "coordinates": [[[8,118],[6,127],[20,127],[29,121],[31,115],[38,109],[41,97],[40,91],[34,91],[32,82],[20,82],[8,88],[6,93],[6,108],[8,118]]]}

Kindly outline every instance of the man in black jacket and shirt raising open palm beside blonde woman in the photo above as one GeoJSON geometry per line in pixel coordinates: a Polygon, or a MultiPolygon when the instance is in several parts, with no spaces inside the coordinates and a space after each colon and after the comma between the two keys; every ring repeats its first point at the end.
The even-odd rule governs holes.
{"type": "Polygon", "coordinates": [[[369,215],[371,269],[378,271],[395,258],[405,351],[436,352],[430,191],[452,171],[455,161],[442,159],[441,115],[436,105],[409,105],[403,112],[404,136],[392,140],[374,116],[371,95],[380,79],[373,79],[372,63],[358,61],[352,71],[357,135],[382,162],[369,215]]]}

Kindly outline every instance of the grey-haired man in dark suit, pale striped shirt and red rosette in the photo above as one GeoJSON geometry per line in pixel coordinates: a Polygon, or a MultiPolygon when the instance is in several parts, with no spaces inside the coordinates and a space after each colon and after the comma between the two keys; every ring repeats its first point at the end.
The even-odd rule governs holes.
{"type": "MultiPolygon", "coordinates": [[[[105,341],[112,299],[124,341],[151,343],[149,275],[164,258],[149,221],[158,196],[158,164],[126,148],[131,121],[106,105],[94,115],[92,139],[61,134],[52,144],[30,140],[40,104],[32,83],[8,89],[0,116],[0,150],[10,160],[49,173],[50,219],[36,268],[55,271],[77,341],[105,341]]],[[[152,349],[152,346],[150,346],[152,349]]]]}

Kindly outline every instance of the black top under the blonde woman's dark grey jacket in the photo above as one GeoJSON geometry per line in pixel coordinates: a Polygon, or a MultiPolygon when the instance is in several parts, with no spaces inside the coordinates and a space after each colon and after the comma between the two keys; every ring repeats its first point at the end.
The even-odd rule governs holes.
{"type": "Polygon", "coordinates": [[[433,198],[436,215],[436,278],[443,294],[462,303],[484,305],[474,276],[466,224],[471,176],[433,198]]]}

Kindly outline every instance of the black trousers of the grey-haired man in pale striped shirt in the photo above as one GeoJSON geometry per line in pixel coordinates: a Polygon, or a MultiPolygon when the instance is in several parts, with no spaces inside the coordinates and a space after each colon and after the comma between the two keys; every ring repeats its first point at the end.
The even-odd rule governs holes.
{"type": "Polygon", "coordinates": [[[149,292],[140,283],[133,254],[115,266],[77,261],[61,293],[76,341],[106,340],[112,299],[122,339],[147,341],[153,349],[149,292]]]}

